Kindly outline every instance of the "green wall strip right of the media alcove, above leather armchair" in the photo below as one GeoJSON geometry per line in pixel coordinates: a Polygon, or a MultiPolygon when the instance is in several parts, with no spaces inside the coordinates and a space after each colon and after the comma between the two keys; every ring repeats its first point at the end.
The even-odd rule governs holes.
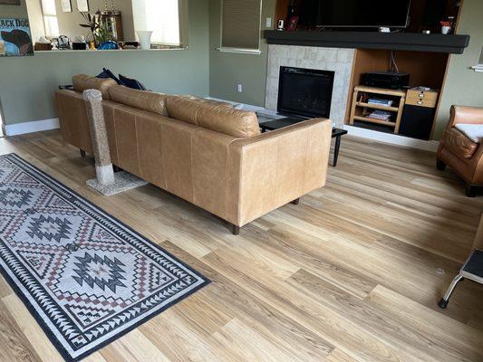
{"type": "Polygon", "coordinates": [[[450,55],[446,86],[440,98],[434,139],[440,139],[449,119],[451,105],[483,107],[483,73],[470,69],[477,65],[483,46],[483,1],[464,0],[458,33],[469,34],[469,47],[460,55],[450,55]]]}

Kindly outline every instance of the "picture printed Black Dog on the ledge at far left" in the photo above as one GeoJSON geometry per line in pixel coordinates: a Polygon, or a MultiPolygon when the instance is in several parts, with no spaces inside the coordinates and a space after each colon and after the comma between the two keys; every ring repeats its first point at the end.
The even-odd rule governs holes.
{"type": "Polygon", "coordinates": [[[28,19],[0,19],[0,57],[34,55],[28,19]]]}

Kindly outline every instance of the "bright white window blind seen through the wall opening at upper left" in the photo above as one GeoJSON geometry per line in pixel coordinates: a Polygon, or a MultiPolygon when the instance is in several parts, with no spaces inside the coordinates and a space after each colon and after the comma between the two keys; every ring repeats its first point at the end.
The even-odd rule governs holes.
{"type": "Polygon", "coordinates": [[[179,0],[132,0],[135,31],[151,31],[151,43],[180,45],[179,0]]]}

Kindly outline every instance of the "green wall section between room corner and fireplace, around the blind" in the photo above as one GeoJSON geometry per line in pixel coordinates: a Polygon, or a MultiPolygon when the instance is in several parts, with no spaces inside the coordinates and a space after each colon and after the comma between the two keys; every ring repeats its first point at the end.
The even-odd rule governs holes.
{"type": "MultiPolygon", "coordinates": [[[[219,52],[221,0],[209,0],[209,95],[223,100],[233,100],[254,106],[265,105],[266,62],[268,45],[260,33],[260,55],[219,52]],[[243,92],[237,92],[237,83],[243,92]]],[[[262,27],[266,18],[272,18],[275,26],[275,0],[262,1],[262,27]]]]}

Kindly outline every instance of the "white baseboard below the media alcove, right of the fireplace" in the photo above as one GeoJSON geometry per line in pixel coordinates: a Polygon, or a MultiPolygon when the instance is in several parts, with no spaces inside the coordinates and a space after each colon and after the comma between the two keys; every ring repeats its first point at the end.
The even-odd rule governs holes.
{"type": "Polygon", "coordinates": [[[368,138],[378,142],[389,143],[391,145],[423,149],[430,152],[436,152],[440,146],[440,142],[438,141],[426,141],[424,139],[409,138],[393,135],[391,133],[378,132],[372,129],[362,129],[360,127],[353,127],[349,125],[344,125],[343,129],[347,129],[349,131],[348,134],[351,136],[368,138]]]}

